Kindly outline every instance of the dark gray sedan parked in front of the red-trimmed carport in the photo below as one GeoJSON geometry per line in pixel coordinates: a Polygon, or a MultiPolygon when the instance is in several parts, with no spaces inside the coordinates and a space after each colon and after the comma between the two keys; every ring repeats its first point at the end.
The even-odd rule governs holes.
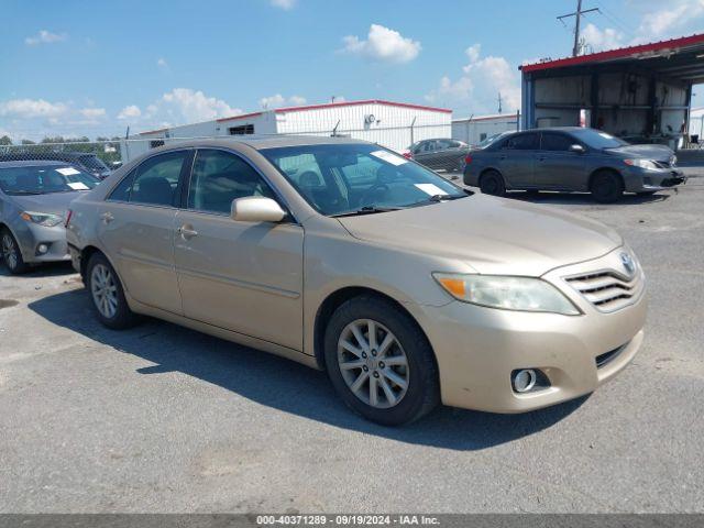
{"type": "Polygon", "coordinates": [[[464,183],[482,193],[588,191],[601,202],[624,191],[652,194],[685,182],[664,145],[631,145],[605,132],[553,128],[514,132],[472,151],[464,183]]]}

